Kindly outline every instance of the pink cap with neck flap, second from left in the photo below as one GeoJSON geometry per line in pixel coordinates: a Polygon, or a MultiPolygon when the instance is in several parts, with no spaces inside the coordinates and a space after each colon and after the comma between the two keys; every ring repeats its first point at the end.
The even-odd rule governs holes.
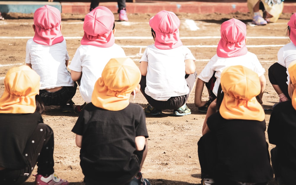
{"type": "Polygon", "coordinates": [[[93,45],[101,48],[109,48],[115,38],[112,32],[114,15],[105,6],[98,6],[86,14],[83,23],[84,35],[81,45],[93,45]]]}

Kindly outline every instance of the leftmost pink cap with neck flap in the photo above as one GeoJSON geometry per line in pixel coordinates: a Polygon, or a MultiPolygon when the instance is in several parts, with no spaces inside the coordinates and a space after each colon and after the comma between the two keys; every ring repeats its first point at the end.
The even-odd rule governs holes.
{"type": "Polygon", "coordinates": [[[61,12],[45,5],[34,13],[35,35],[33,40],[42,45],[54,45],[64,40],[61,32],[61,12]]]}

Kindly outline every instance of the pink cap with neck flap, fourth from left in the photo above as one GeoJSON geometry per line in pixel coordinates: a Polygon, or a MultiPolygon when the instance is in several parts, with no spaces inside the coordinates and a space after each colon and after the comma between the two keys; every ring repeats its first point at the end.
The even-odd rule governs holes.
{"type": "Polygon", "coordinates": [[[221,24],[221,39],[217,47],[218,57],[230,58],[247,54],[247,27],[238,19],[229,19],[221,24]]]}

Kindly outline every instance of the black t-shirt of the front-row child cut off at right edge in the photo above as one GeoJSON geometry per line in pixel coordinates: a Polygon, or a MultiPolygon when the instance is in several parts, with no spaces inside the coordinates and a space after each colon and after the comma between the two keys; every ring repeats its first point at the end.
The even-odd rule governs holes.
{"type": "Polygon", "coordinates": [[[282,178],[286,183],[296,184],[296,110],[291,100],[274,107],[267,133],[269,143],[278,148],[276,160],[282,178]]]}

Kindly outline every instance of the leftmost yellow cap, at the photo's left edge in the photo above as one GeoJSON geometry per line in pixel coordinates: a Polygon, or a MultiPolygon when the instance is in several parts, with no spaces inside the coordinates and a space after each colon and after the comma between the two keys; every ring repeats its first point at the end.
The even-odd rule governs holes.
{"type": "Polygon", "coordinates": [[[11,68],[4,79],[0,113],[33,113],[39,94],[40,76],[29,66],[11,68]]]}

